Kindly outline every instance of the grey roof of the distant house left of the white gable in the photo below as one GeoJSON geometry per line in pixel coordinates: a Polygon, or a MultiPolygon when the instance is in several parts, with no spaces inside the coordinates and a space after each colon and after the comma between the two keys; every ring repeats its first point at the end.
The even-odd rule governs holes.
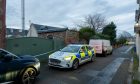
{"type": "MultiPolygon", "coordinates": [[[[28,30],[24,30],[25,35],[27,35],[28,30]]],[[[12,35],[12,36],[16,36],[16,35],[23,35],[23,32],[21,29],[15,29],[15,28],[6,28],[6,35],[12,35]]]]}

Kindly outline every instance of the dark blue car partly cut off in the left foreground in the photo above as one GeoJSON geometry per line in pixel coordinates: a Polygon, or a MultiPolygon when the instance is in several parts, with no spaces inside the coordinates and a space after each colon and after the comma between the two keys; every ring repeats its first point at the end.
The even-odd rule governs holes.
{"type": "Polygon", "coordinates": [[[33,56],[16,56],[0,49],[0,83],[31,84],[39,74],[40,62],[33,56]]]}

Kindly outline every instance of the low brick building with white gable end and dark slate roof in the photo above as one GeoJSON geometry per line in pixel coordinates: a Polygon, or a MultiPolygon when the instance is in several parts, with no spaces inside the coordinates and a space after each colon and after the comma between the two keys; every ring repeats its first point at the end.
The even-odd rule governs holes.
{"type": "Polygon", "coordinates": [[[46,25],[32,23],[30,25],[27,37],[40,37],[64,40],[66,44],[77,43],[79,41],[79,33],[70,31],[68,28],[59,28],[46,25]]]}

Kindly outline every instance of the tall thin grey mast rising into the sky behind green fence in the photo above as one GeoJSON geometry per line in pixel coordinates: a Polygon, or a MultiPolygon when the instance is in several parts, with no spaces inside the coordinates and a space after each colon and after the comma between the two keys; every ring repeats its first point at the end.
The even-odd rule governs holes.
{"type": "Polygon", "coordinates": [[[25,36],[25,1],[21,0],[22,33],[25,36]]]}

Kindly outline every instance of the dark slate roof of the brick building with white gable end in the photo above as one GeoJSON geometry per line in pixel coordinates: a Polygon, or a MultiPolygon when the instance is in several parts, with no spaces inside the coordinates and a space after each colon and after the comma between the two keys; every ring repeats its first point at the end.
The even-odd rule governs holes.
{"type": "Polygon", "coordinates": [[[59,27],[45,26],[45,25],[39,25],[33,23],[31,24],[31,26],[34,26],[34,28],[36,28],[38,33],[64,32],[68,30],[68,28],[59,28],[59,27]]]}

